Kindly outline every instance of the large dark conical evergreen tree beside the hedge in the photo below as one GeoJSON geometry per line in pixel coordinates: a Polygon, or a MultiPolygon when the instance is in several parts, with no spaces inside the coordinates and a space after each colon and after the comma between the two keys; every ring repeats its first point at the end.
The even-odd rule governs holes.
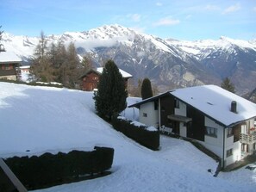
{"type": "Polygon", "coordinates": [[[119,114],[126,108],[128,93],[122,74],[114,61],[107,61],[99,78],[97,89],[94,100],[99,116],[109,121],[112,115],[119,114]]]}

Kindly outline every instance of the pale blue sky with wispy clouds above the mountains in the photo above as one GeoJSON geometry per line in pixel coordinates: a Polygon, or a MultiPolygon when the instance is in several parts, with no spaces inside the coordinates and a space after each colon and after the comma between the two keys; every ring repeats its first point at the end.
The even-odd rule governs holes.
{"type": "Polygon", "coordinates": [[[178,40],[256,39],[255,0],[1,0],[1,30],[39,36],[120,24],[178,40]]]}

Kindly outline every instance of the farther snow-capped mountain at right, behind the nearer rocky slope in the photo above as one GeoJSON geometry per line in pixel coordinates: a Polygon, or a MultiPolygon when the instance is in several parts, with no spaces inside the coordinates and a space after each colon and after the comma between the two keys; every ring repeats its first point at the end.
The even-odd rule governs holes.
{"type": "Polygon", "coordinates": [[[221,79],[230,77],[238,92],[245,93],[255,89],[255,40],[233,40],[221,37],[219,40],[166,41],[196,58],[212,71],[215,77],[221,79]]]}

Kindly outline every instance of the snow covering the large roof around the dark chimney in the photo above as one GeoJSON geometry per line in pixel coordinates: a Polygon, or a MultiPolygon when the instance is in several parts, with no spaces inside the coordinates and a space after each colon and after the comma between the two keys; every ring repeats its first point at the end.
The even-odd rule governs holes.
{"type": "Polygon", "coordinates": [[[216,85],[203,85],[170,91],[172,96],[190,104],[225,126],[256,116],[256,104],[216,85]],[[231,102],[237,113],[231,112],[231,102]]]}

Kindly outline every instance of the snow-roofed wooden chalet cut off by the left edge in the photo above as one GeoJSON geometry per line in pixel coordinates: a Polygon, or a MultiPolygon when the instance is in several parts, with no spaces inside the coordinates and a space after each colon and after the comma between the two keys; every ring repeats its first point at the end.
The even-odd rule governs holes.
{"type": "Polygon", "coordinates": [[[18,58],[15,53],[0,52],[0,79],[16,81],[21,62],[22,59],[18,58]]]}

